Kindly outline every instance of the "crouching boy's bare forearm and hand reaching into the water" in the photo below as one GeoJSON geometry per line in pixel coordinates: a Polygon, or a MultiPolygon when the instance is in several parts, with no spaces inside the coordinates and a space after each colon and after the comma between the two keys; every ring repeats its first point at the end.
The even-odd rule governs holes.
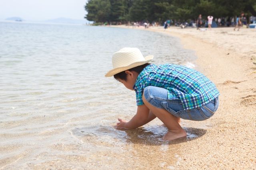
{"type": "Polygon", "coordinates": [[[140,105],[137,108],[136,115],[134,115],[130,121],[126,122],[118,118],[120,122],[116,124],[116,127],[135,129],[152,121],[154,118],[156,118],[156,116],[151,111],[149,111],[146,105],[140,105]]]}

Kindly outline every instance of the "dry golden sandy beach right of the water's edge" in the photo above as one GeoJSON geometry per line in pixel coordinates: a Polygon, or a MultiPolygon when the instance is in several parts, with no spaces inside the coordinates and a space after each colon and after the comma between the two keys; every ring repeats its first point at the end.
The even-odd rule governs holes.
{"type": "MultiPolygon", "coordinates": [[[[131,26],[118,27],[132,29],[131,26]]],[[[144,30],[180,38],[184,48],[195,51],[197,69],[216,84],[221,94],[220,106],[211,119],[182,121],[182,127],[191,126],[190,131],[194,130],[200,137],[172,142],[172,146],[178,148],[178,159],[168,158],[168,154],[163,155],[159,150],[154,156],[147,157],[142,155],[146,151],[140,149],[138,154],[142,158],[152,160],[145,166],[148,169],[255,169],[256,29],[234,31],[232,27],[224,27],[198,31],[196,28],[170,27],[164,31],[163,27],[150,27],[144,30]],[[163,157],[166,162],[162,167],[156,166],[163,157]],[[167,166],[168,161],[176,163],[167,166]]],[[[147,149],[154,150],[154,147],[147,149]]],[[[171,154],[172,149],[169,151],[171,154]]]]}

